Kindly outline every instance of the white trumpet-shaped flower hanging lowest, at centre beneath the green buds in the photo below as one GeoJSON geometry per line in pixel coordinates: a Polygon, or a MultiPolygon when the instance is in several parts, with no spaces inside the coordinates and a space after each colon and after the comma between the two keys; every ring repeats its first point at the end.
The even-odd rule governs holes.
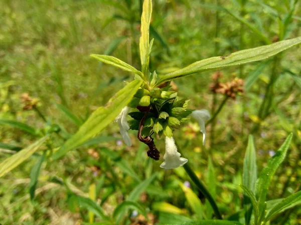
{"type": "Polygon", "coordinates": [[[165,137],[165,154],[163,156],[164,162],[160,167],[165,169],[177,168],[184,165],[188,159],[180,157],[181,154],[178,152],[177,146],[175,144],[175,139],[173,137],[165,137]]]}

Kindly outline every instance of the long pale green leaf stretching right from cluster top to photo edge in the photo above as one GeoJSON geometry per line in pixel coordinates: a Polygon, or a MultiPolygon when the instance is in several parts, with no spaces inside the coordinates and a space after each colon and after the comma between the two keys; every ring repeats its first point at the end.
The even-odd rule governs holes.
{"type": "Polygon", "coordinates": [[[203,59],[201,61],[194,62],[185,68],[166,74],[165,76],[159,79],[156,85],[173,79],[181,78],[186,75],[191,75],[196,72],[202,72],[210,69],[223,68],[233,65],[241,65],[252,61],[266,59],[289,47],[299,44],[300,42],[301,37],[296,37],[265,46],[237,51],[229,55],[203,59]]]}

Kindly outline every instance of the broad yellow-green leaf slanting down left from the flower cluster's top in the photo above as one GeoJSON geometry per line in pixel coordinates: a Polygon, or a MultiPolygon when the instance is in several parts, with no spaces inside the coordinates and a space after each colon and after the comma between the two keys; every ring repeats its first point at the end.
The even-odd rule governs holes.
{"type": "Polygon", "coordinates": [[[133,80],[119,90],[107,103],[105,107],[96,109],[79,130],[68,139],[64,145],[53,154],[53,159],[58,159],[68,151],[80,146],[87,140],[103,130],[109,123],[114,121],[121,109],[126,106],[132,96],[138,90],[142,81],[133,80]]]}

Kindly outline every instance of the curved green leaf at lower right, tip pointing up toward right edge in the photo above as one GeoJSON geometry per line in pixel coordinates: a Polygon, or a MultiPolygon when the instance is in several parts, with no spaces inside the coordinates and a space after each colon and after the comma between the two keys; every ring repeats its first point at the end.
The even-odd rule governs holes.
{"type": "Polygon", "coordinates": [[[284,143],[278,149],[276,154],[268,160],[267,166],[264,169],[262,169],[256,181],[255,189],[256,189],[256,196],[259,204],[259,211],[260,211],[259,222],[261,222],[261,220],[264,217],[265,199],[266,199],[266,194],[268,191],[269,184],[272,180],[272,177],[276,169],[285,158],[291,139],[292,139],[292,133],[290,133],[287,136],[284,143]]]}

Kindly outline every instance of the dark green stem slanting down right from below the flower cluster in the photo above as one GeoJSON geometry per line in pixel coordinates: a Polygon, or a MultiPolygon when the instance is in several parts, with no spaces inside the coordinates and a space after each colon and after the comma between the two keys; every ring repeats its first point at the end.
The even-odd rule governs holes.
{"type": "Polygon", "coordinates": [[[191,180],[196,184],[196,186],[198,187],[198,189],[208,199],[208,201],[209,201],[209,203],[210,203],[210,205],[211,205],[211,207],[212,207],[212,209],[214,211],[214,214],[215,214],[216,218],[223,219],[222,215],[221,215],[221,213],[220,213],[220,211],[218,209],[218,206],[217,206],[215,200],[213,199],[212,195],[209,193],[208,189],[203,184],[203,182],[197,177],[196,173],[189,166],[189,163],[184,164],[183,167],[184,167],[185,171],[187,172],[187,174],[189,175],[189,177],[191,178],[191,180]]]}

